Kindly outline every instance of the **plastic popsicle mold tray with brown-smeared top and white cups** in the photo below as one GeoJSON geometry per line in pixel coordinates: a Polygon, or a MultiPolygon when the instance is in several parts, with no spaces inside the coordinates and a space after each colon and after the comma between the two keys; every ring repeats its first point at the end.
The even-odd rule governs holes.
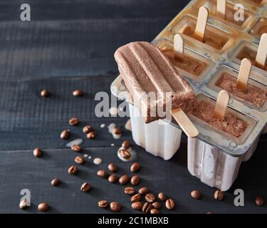
{"type": "MultiPolygon", "coordinates": [[[[216,86],[212,85],[212,83],[214,82],[214,77],[219,75],[221,69],[224,68],[226,71],[233,72],[236,76],[240,67],[240,59],[238,58],[240,56],[238,56],[238,54],[241,51],[241,48],[248,46],[251,50],[255,51],[257,49],[256,44],[259,41],[259,37],[257,35],[254,36],[254,33],[256,34],[258,32],[256,31],[256,24],[259,23],[258,21],[263,20],[264,17],[267,17],[267,0],[263,0],[259,4],[256,4],[253,0],[227,1],[227,7],[230,8],[234,7],[234,4],[241,3],[244,5],[246,19],[244,23],[233,23],[233,21],[222,20],[217,17],[214,1],[215,0],[190,1],[189,4],[177,16],[175,16],[174,19],[172,19],[172,21],[170,21],[169,24],[152,41],[152,43],[161,49],[172,48],[174,35],[176,33],[181,34],[184,39],[184,53],[187,56],[197,58],[201,62],[204,61],[207,66],[204,71],[199,74],[199,76],[194,76],[192,73],[187,72],[186,68],[181,69],[177,67],[178,71],[182,74],[182,76],[187,78],[187,81],[189,81],[190,85],[197,94],[197,97],[204,96],[210,100],[216,100],[218,96],[219,88],[216,88],[216,86]],[[210,41],[201,43],[192,37],[192,32],[194,32],[194,27],[196,26],[198,9],[202,5],[207,6],[210,11],[208,24],[206,26],[206,38],[210,39],[211,43],[212,41],[215,42],[215,44],[212,45],[209,43],[210,41]]],[[[250,82],[251,81],[252,83],[255,83],[256,86],[266,88],[267,72],[253,66],[250,82]]],[[[131,98],[125,97],[125,93],[123,93],[125,90],[125,85],[120,76],[118,76],[111,85],[111,91],[115,96],[117,96],[117,98],[127,100],[128,103],[131,103],[131,98]]],[[[230,171],[228,179],[226,178],[226,175],[221,175],[221,180],[216,180],[217,177],[214,176],[214,181],[216,182],[216,184],[214,184],[215,182],[211,183],[211,180],[203,179],[204,176],[201,177],[201,173],[196,169],[198,164],[202,166],[209,165],[208,161],[202,161],[202,163],[199,163],[196,159],[199,159],[197,157],[199,157],[200,154],[197,157],[194,157],[195,155],[192,153],[189,155],[191,156],[191,158],[189,157],[189,160],[191,161],[188,165],[189,171],[192,172],[194,167],[196,172],[192,172],[193,175],[199,177],[201,181],[205,182],[207,185],[220,187],[223,190],[228,189],[232,182],[234,182],[240,163],[248,160],[251,155],[253,155],[254,150],[256,150],[258,138],[267,122],[266,104],[261,108],[257,108],[255,105],[251,105],[251,103],[244,102],[244,100],[231,95],[229,108],[238,113],[238,115],[245,117],[245,119],[251,123],[246,130],[246,133],[244,133],[241,138],[231,137],[231,135],[229,136],[224,132],[211,128],[211,126],[201,123],[201,121],[196,120],[196,118],[189,116],[189,118],[191,118],[193,123],[197,126],[200,133],[199,138],[189,139],[189,141],[194,141],[194,145],[197,145],[197,147],[194,145],[189,146],[201,148],[205,145],[206,148],[209,147],[216,151],[214,156],[217,157],[217,159],[226,161],[224,165],[228,164],[233,166],[232,170],[229,168],[230,171]],[[194,159],[192,159],[192,156],[194,159]]],[[[135,109],[135,107],[132,107],[132,111],[135,109]]],[[[133,121],[135,120],[133,119],[133,121]]],[[[137,123],[138,121],[141,125],[142,121],[136,119],[135,122],[137,123]]],[[[177,130],[180,129],[176,122],[172,122],[171,125],[172,127],[177,128],[177,130]]],[[[134,138],[137,138],[137,132],[132,134],[134,138]]],[[[179,138],[179,132],[177,131],[175,134],[178,135],[179,138]]],[[[164,140],[164,138],[162,138],[162,140],[164,140]]],[[[178,142],[175,147],[179,147],[179,139],[175,138],[175,140],[178,142]]],[[[137,141],[141,142],[141,140],[137,141]]],[[[142,145],[142,143],[139,144],[142,145]]],[[[142,146],[146,147],[145,145],[142,146]]],[[[153,148],[152,150],[157,149],[153,148]]],[[[152,153],[155,152],[156,155],[164,157],[164,147],[161,147],[159,150],[161,151],[152,151],[152,153]]],[[[201,150],[199,149],[199,152],[200,151],[201,150]]],[[[164,159],[172,157],[172,153],[167,155],[167,158],[165,157],[164,159]]],[[[206,155],[208,155],[208,152],[206,155]]],[[[220,166],[218,165],[218,167],[220,166]]],[[[204,172],[204,170],[202,170],[202,172],[204,172]]]]}

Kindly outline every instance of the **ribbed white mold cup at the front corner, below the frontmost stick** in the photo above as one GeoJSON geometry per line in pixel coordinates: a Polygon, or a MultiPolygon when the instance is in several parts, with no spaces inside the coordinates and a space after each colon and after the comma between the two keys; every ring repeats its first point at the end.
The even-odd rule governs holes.
{"type": "Polygon", "coordinates": [[[233,157],[197,138],[188,138],[188,170],[206,185],[227,191],[236,180],[241,162],[253,155],[257,144],[258,140],[245,155],[233,157]]]}

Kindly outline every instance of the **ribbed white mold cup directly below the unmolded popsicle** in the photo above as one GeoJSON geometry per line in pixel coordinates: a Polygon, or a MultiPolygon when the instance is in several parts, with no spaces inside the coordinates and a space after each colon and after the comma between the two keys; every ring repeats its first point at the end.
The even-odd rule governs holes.
{"type": "Polygon", "coordinates": [[[129,104],[132,125],[132,138],[137,145],[144,147],[152,155],[169,160],[177,152],[182,130],[174,128],[163,120],[145,123],[140,111],[129,104]]]}

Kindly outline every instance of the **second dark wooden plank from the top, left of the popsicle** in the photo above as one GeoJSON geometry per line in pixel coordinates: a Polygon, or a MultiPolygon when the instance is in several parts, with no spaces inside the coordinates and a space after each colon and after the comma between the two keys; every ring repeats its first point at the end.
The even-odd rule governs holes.
{"type": "Polygon", "coordinates": [[[114,52],[151,41],[167,19],[90,19],[0,23],[0,81],[52,76],[115,77],[114,52]]]}

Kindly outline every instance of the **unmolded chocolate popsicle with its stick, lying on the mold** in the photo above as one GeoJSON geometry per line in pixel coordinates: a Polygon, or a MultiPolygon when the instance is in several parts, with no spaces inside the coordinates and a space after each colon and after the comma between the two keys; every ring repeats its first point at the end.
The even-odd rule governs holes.
{"type": "MultiPolygon", "coordinates": [[[[194,91],[169,59],[152,43],[128,43],[117,49],[115,60],[120,76],[134,98],[134,105],[140,108],[146,123],[164,118],[158,115],[157,110],[166,111],[169,105],[173,116],[174,110],[175,113],[183,113],[180,111],[187,112],[194,107],[194,91]],[[155,94],[155,98],[147,99],[147,94],[151,92],[155,94]]],[[[174,118],[177,120],[177,116],[174,118]]],[[[198,131],[187,116],[184,114],[181,118],[186,125],[188,123],[185,128],[189,126],[192,130],[189,135],[197,137],[198,131]]],[[[183,130],[184,123],[179,123],[183,130]]],[[[187,133],[187,130],[184,131],[187,133]]]]}

